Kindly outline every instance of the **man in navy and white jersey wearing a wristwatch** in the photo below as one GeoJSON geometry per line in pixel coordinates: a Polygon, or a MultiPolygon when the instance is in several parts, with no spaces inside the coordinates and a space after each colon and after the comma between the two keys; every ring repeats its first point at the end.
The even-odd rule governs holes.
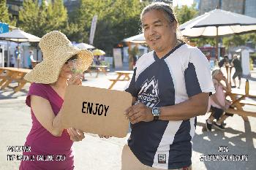
{"type": "Polygon", "coordinates": [[[123,170],[191,169],[196,116],[204,115],[214,93],[206,56],[177,38],[178,20],[165,3],[141,12],[146,43],[153,51],[141,56],[127,92],[133,106],[123,170]]]}

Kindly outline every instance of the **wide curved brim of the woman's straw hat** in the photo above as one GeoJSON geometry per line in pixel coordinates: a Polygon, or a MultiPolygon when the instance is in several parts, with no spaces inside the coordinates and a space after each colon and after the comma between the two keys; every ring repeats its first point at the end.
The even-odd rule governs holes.
{"type": "Polygon", "coordinates": [[[82,61],[80,69],[86,71],[91,66],[93,61],[93,54],[89,50],[81,50],[77,47],[69,47],[67,50],[61,50],[61,52],[53,54],[61,57],[52,57],[43,60],[38,63],[31,72],[25,75],[24,79],[29,82],[37,82],[42,84],[50,84],[56,82],[59,78],[62,66],[64,63],[72,57],[72,55],[78,54],[78,57],[82,61]]]}

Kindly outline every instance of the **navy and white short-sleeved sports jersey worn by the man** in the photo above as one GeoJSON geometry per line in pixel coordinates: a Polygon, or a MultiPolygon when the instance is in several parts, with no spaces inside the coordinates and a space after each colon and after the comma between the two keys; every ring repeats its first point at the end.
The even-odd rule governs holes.
{"type": "MultiPolygon", "coordinates": [[[[135,66],[127,92],[148,107],[186,101],[198,93],[214,93],[210,66],[196,47],[184,43],[159,59],[151,51],[135,66]]],[[[157,120],[131,125],[129,147],[141,163],[158,169],[191,164],[196,117],[181,121],[157,120]]]]}

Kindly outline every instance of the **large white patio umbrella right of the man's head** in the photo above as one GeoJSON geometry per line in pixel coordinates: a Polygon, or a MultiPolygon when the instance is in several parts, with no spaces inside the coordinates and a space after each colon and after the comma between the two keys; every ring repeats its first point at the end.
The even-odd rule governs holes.
{"type": "Polygon", "coordinates": [[[181,34],[189,37],[225,36],[256,30],[256,18],[214,9],[180,26],[181,34]]]}

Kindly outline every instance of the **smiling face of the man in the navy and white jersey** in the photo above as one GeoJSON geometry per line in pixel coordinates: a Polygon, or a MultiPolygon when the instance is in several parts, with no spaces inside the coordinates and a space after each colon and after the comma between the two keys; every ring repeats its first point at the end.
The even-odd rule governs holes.
{"type": "Polygon", "coordinates": [[[176,39],[176,26],[170,23],[163,12],[151,10],[142,18],[146,43],[156,53],[168,53],[173,39],[176,39]]]}

